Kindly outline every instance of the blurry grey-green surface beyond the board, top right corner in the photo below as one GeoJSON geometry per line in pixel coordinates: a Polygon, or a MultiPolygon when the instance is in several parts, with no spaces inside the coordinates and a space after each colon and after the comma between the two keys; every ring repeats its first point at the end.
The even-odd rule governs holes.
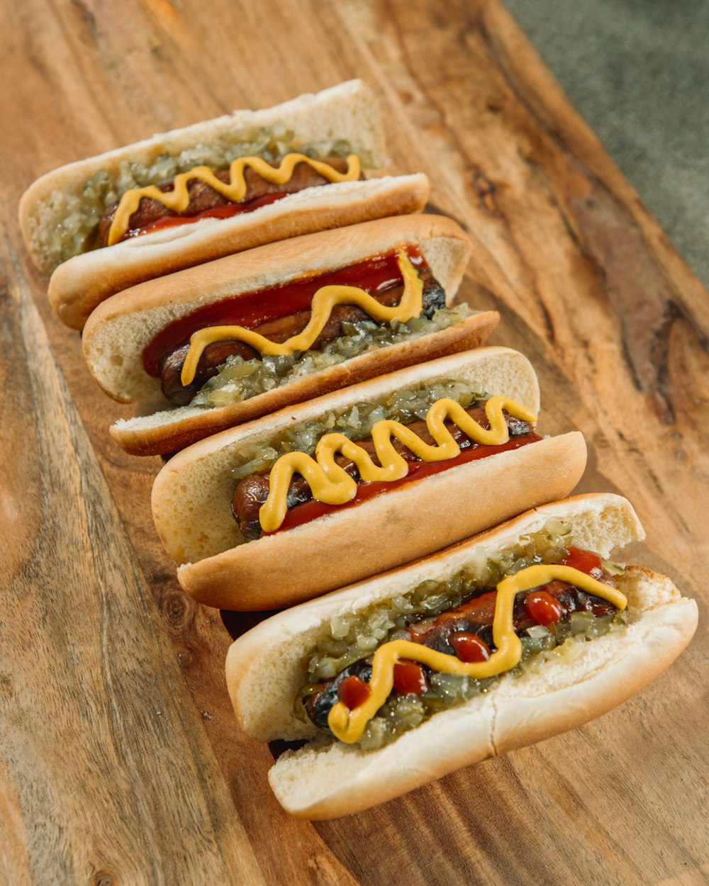
{"type": "Polygon", "coordinates": [[[709,0],[504,0],[709,289],[709,0]]]}

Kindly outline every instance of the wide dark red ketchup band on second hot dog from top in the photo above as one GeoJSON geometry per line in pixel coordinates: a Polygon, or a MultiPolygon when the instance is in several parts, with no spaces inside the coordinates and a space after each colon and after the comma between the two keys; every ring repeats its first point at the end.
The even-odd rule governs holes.
{"type": "MultiPolygon", "coordinates": [[[[407,246],[407,254],[417,268],[425,260],[416,246],[407,246]]],[[[347,268],[318,275],[303,275],[279,286],[244,292],[242,295],[215,301],[191,314],[179,317],[161,330],[143,351],[143,366],[149,376],[160,374],[160,361],[190,341],[192,332],[206,326],[244,326],[254,329],[298,311],[310,309],[313,295],[321,286],[359,286],[370,295],[401,285],[401,271],[396,253],[374,255],[347,268]]]]}

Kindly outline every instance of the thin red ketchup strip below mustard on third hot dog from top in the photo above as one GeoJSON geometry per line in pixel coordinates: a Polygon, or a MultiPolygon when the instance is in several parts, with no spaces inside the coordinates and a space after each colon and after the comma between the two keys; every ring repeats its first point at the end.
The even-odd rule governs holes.
{"type": "MultiPolygon", "coordinates": [[[[474,462],[479,458],[486,458],[487,455],[495,455],[498,452],[508,452],[510,449],[518,449],[526,446],[527,443],[535,443],[541,437],[534,432],[528,434],[519,434],[517,437],[510,437],[507,443],[501,443],[500,446],[471,446],[463,449],[456,458],[449,458],[444,462],[409,462],[409,473],[406,477],[399,480],[381,480],[374,483],[362,483],[357,487],[357,493],[352,501],[345,504],[325,504],[323,501],[304,501],[302,504],[296,505],[294,508],[288,509],[283,523],[278,527],[276,532],[284,532],[286,529],[292,529],[294,526],[300,526],[315,520],[317,517],[323,517],[325,514],[331,514],[335,510],[343,508],[352,508],[354,505],[360,504],[362,501],[374,498],[375,495],[381,495],[391,489],[396,489],[409,483],[411,480],[419,480],[430,477],[432,474],[438,474],[441,470],[455,468],[458,464],[466,462],[474,462]]],[[[266,535],[274,535],[275,532],[261,532],[261,537],[266,535]]]]}

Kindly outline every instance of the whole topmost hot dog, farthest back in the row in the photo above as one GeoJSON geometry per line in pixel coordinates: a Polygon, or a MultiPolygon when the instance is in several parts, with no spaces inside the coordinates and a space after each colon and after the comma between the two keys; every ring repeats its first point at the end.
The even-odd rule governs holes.
{"type": "Polygon", "coordinates": [[[341,83],[56,169],[24,194],[20,226],[59,317],[82,329],[100,301],[144,280],[420,211],[426,177],[382,177],[383,133],[370,89],[341,83]]]}

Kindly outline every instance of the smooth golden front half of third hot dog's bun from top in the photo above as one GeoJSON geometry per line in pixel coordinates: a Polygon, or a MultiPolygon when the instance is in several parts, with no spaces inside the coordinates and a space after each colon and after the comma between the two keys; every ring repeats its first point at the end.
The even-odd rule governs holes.
{"type": "Polygon", "coordinates": [[[281,609],[562,498],[585,467],[580,431],[541,439],[183,566],[177,578],[206,606],[281,609]]]}

